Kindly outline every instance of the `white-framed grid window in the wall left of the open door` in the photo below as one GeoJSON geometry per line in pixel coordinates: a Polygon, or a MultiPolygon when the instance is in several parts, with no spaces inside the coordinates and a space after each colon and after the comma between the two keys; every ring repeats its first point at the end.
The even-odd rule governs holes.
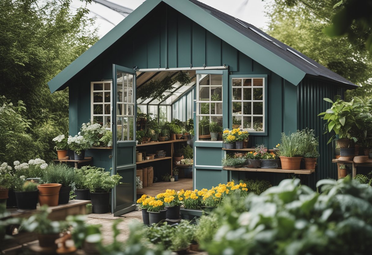
{"type": "Polygon", "coordinates": [[[90,83],[90,120],[111,130],[112,81],[90,83]]]}

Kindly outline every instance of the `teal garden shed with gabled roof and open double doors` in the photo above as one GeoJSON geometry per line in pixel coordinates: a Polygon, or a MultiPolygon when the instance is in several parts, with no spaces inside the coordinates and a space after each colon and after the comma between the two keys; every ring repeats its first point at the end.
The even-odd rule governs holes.
{"type": "MultiPolygon", "coordinates": [[[[326,145],[330,136],[323,135],[324,122],[317,116],[329,108],[323,98],[342,97],[344,89],[356,88],[255,26],[196,0],[145,1],[48,85],[52,93],[69,88],[70,135],[89,121],[112,130],[113,147],[92,148],[87,155],[94,166],[123,176],[112,192],[116,215],[134,210],[136,149],[145,147],[136,147],[137,113],[152,113],[161,123],[193,119],[193,140],[178,143],[193,148],[196,189],[247,175],[262,174],[272,184],[288,177],[224,170],[221,160],[226,151],[222,141],[203,139],[205,120],[221,123],[224,129],[247,130],[248,147],[273,148],[282,132],[314,129],[320,158],[307,179],[314,186],[319,179],[337,176],[331,163],[334,150],[326,145]],[[181,77],[185,74],[187,82],[181,77]],[[150,97],[151,86],[166,79],[174,82],[171,88],[150,97]],[[137,96],[141,88],[142,98],[137,96]]],[[[171,150],[153,162],[159,171],[172,171],[172,155],[179,145],[166,141],[151,146],[153,151],[171,150]]]]}

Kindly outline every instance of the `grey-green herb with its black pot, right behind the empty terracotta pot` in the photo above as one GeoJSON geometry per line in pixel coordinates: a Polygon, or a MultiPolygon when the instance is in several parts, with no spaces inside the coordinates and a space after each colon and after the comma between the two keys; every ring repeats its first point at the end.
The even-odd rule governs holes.
{"type": "Polygon", "coordinates": [[[75,182],[75,170],[67,164],[51,164],[42,178],[43,183],[59,183],[61,189],[58,193],[58,204],[67,204],[70,201],[71,186],[75,182]]]}

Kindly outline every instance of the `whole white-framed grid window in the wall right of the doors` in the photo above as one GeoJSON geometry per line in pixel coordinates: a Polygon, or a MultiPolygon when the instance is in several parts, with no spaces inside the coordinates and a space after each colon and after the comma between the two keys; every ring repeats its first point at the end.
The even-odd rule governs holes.
{"type": "Polygon", "coordinates": [[[232,127],[265,133],[265,78],[232,78],[232,127]]]}

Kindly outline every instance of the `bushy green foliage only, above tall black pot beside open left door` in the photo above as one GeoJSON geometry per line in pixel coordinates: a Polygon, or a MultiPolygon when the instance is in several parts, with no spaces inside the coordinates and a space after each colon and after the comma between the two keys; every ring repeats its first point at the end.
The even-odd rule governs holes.
{"type": "Polygon", "coordinates": [[[122,179],[119,174],[110,176],[110,172],[93,167],[86,173],[86,178],[86,186],[92,193],[110,192],[122,179]]]}

